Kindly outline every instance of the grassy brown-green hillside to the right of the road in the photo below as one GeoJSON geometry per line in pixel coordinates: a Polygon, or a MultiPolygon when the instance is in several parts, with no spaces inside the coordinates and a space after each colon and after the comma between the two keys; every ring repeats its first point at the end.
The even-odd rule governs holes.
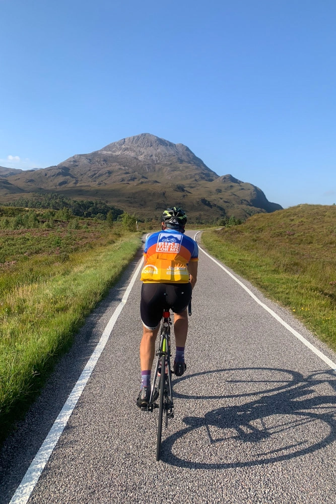
{"type": "Polygon", "coordinates": [[[336,206],[299,205],[202,234],[211,254],[336,350],[336,206]]]}

